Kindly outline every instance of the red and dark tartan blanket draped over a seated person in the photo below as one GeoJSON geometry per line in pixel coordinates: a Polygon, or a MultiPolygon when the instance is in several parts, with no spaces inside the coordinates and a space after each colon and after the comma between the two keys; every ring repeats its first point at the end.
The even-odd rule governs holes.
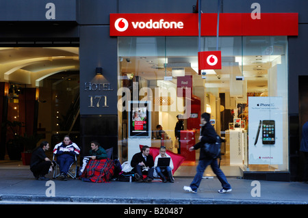
{"type": "Polygon", "coordinates": [[[114,168],[112,159],[90,159],[80,178],[85,182],[109,182],[114,175],[114,168]]]}

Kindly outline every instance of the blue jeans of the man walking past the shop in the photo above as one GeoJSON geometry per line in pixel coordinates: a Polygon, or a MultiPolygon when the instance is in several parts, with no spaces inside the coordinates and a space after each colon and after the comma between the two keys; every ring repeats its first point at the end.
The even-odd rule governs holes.
{"type": "Polygon", "coordinates": [[[190,184],[190,187],[193,191],[197,191],[200,186],[203,173],[208,165],[211,165],[211,169],[214,174],[216,174],[218,180],[220,180],[223,189],[231,189],[231,185],[228,183],[226,176],[222,170],[218,167],[217,159],[204,159],[200,160],[198,163],[198,167],[196,167],[196,176],[194,176],[194,180],[190,184]]]}

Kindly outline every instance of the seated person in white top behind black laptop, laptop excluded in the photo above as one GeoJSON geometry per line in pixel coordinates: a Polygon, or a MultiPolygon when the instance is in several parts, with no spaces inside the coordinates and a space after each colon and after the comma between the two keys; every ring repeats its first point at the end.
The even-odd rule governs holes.
{"type": "Polygon", "coordinates": [[[167,182],[166,177],[163,174],[165,173],[168,176],[169,182],[172,182],[172,183],[175,182],[172,177],[173,162],[172,162],[171,157],[170,157],[170,164],[168,167],[157,167],[158,159],[161,157],[170,157],[166,153],[166,147],[164,146],[160,147],[159,154],[156,156],[155,161],[154,161],[154,167],[156,169],[158,176],[162,178],[163,182],[167,182]]]}

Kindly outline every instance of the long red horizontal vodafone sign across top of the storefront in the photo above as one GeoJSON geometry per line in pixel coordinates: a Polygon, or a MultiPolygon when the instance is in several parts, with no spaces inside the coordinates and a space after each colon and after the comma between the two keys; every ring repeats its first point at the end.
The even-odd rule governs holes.
{"type": "MultiPolygon", "coordinates": [[[[216,36],[217,14],[201,14],[201,35],[216,36]]],[[[110,36],[198,36],[198,14],[110,14],[110,36]]],[[[219,36],[298,36],[298,13],[221,13],[219,36]]]]}

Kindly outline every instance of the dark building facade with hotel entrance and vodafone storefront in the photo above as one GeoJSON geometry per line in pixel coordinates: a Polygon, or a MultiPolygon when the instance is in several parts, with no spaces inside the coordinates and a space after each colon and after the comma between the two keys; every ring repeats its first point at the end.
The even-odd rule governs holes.
{"type": "MultiPolygon", "coordinates": [[[[227,175],[300,180],[308,3],[219,3],[201,1],[199,37],[195,0],[0,1],[1,122],[52,146],[70,134],[82,155],[95,139],[122,163],[164,145],[190,176],[207,111],[227,175]],[[199,74],[199,51],[220,51],[221,68],[199,74]]],[[[11,134],[1,128],[2,158],[11,134]]]]}

